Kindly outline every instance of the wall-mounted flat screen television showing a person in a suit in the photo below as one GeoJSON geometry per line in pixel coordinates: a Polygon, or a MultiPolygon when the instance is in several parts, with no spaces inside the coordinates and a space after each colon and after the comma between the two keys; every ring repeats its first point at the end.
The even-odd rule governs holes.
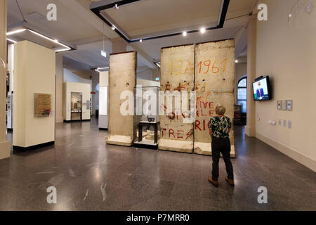
{"type": "Polygon", "coordinates": [[[272,98],[269,76],[256,79],[252,83],[254,90],[254,101],[266,101],[272,98]]]}

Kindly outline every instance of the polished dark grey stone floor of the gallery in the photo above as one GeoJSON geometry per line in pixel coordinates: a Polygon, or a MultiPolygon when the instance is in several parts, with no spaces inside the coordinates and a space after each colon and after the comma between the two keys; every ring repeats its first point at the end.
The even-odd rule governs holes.
{"type": "MultiPolygon", "coordinates": [[[[58,124],[55,146],[0,160],[0,210],[316,210],[316,173],[235,127],[235,188],[211,157],[105,145],[96,120],[58,124]],[[57,190],[48,204],[46,188],[57,190]],[[258,203],[258,188],[268,203],[258,203]]],[[[8,134],[8,139],[12,135],[8,134]]]]}

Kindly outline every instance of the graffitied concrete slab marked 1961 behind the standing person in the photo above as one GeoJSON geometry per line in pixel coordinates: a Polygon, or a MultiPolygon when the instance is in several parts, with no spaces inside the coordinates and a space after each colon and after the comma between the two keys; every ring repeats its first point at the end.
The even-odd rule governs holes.
{"type": "MultiPolygon", "coordinates": [[[[228,39],[197,44],[195,47],[195,153],[211,155],[209,119],[216,115],[217,104],[226,108],[233,121],[235,84],[235,41],[228,39]]],[[[234,131],[230,131],[231,152],[235,157],[234,131]]]]}

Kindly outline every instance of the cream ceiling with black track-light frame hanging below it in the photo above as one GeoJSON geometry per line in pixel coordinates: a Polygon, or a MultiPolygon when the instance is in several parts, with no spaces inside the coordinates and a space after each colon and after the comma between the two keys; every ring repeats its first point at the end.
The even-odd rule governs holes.
{"type": "MultiPolygon", "coordinates": [[[[77,45],[77,51],[63,53],[70,59],[67,63],[77,60],[90,68],[108,65],[108,57],[104,58],[100,54],[103,49],[103,34],[105,34],[104,48],[107,53],[112,53],[111,39],[116,39],[119,35],[107,25],[103,26],[103,22],[90,11],[89,5],[93,0],[18,0],[18,2],[27,23],[44,30],[60,41],[77,45]],[[50,3],[57,6],[57,21],[46,20],[48,12],[46,6],[50,3]]],[[[138,35],[213,23],[218,14],[219,2],[219,0],[142,0],[137,4],[121,6],[115,11],[111,9],[107,13],[129,34],[138,35]]],[[[257,0],[230,0],[226,16],[228,20],[223,29],[206,31],[204,34],[199,32],[187,34],[187,37],[180,35],[133,43],[129,44],[128,50],[138,51],[140,67],[150,67],[154,65],[153,60],[159,60],[160,49],[164,46],[238,37],[238,43],[242,44],[237,46],[237,49],[239,53],[244,54],[246,35],[243,27],[248,18],[232,20],[230,18],[253,11],[256,2],[257,0]]],[[[22,15],[15,0],[8,0],[8,26],[21,21],[22,15]]]]}

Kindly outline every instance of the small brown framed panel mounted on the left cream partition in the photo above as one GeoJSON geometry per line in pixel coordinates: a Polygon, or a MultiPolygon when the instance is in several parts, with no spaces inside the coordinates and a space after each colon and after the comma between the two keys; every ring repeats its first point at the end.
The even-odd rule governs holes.
{"type": "Polygon", "coordinates": [[[51,114],[51,94],[34,94],[34,117],[49,117],[51,114]]]}

